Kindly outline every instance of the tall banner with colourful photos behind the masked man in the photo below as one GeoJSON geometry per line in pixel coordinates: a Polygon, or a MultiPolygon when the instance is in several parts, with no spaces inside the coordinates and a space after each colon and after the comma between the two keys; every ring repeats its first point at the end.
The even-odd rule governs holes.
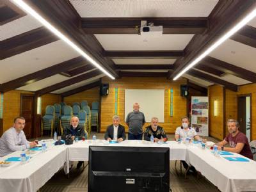
{"type": "Polygon", "coordinates": [[[209,136],[208,97],[191,97],[191,127],[200,136],[209,136]]]}

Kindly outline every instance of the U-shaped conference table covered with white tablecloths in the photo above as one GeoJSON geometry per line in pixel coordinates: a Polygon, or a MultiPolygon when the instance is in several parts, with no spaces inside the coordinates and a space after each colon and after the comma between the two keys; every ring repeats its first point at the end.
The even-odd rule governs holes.
{"type": "MultiPolygon", "coordinates": [[[[85,140],[74,142],[72,145],[53,146],[48,141],[46,152],[38,151],[31,155],[26,164],[13,162],[10,167],[0,167],[0,191],[37,191],[58,172],[64,163],[69,161],[88,161],[89,146],[113,147],[169,147],[170,161],[183,160],[195,166],[208,180],[225,192],[256,191],[256,162],[230,162],[224,156],[214,156],[211,150],[202,149],[198,144],[185,145],[175,141],[164,144],[149,141],[125,140],[121,143],[108,143],[104,140],[85,140]]],[[[20,156],[13,152],[0,158],[20,156]]],[[[241,157],[239,154],[233,156],[241,157]]],[[[172,183],[172,180],[171,180],[172,183]]]]}

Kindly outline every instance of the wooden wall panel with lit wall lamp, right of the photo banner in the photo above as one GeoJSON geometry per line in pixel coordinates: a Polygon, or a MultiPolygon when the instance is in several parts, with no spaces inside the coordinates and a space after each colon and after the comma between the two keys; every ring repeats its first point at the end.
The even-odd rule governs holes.
{"type": "Polygon", "coordinates": [[[223,87],[219,85],[208,87],[209,97],[209,135],[219,140],[223,139],[223,87]],[[214,116],[214,100],[218,101],[218,115],[214,116]]]}

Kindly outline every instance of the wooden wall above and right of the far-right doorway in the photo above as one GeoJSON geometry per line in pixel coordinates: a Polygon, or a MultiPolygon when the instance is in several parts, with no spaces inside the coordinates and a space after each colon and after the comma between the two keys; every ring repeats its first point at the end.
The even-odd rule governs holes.
{"type": "Polygon", "coordinates": [[[252,140],[256,140],[256,83],[239,86],[237,95],[252,93],[252,140]]]}

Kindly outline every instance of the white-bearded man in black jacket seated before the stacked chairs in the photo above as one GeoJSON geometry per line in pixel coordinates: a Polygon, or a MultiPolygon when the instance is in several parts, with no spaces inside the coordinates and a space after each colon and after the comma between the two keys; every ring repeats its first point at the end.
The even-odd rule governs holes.
{"type": "MultiPolygon", "coordinates": [[[[62,140],[65,140],[68,134],[72,135],[72,140],[75,140],[75,138],[78,138],[78,140],[82,140],[83,137],[86,137],[88,135],[85,134],[84,126],[79,125],[79,118],[77,116],[72,116],[70,126],[65,127],[65,129],[63,130],[63,135],[61,136],[62,140]]],[[[83,161],[78,161],[76,168],[81,168],[82,164],[83,161]]],[[[70,165],[72,165],[72,163],[70,163],[70,165]]],[[[65,168],[64,171],[67,172],[65,168]]]]}

